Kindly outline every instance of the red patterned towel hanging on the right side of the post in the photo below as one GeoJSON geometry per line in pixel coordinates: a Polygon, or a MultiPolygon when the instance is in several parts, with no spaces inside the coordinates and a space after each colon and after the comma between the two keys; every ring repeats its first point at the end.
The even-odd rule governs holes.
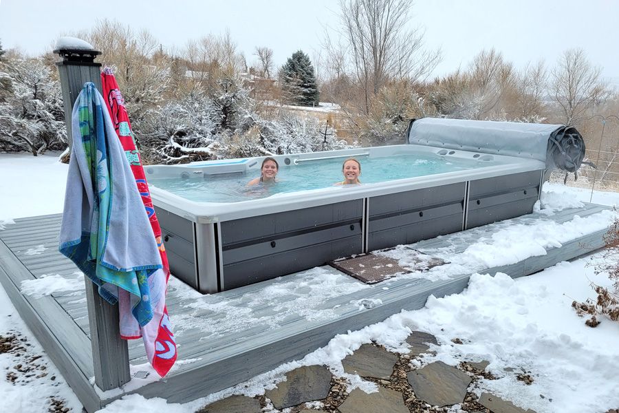
{"type": "MultiPolygon", "coordinates": [[[[144,169],[142,168],[140,151],[138,151],[138,147],[135,145],[133,131],[131,131],[131,122],[129,121],[127,108],[124,105],[124,98],[122,98],[113,72],[107,67],[101,73],[101,83],[107,110],[111,116],[118,140],[120,140],[120,144],[124,149],[124,154],[129,161],[129,165],[131,165],[131,172],[133,173],[135,184],[142,198],[145,215],[148,216],[151,228],[153,229],[153,235],[157,242],[163,265],[161,271],[151,276],[153,280],[157,281],[156,284],[153,283],[155,285],[151,286],[151,294],[156,290],[158,297],[161,297],[156,305],[153,304],[153,319],[149,324],[141,327],[135,319],[131,319],[130,317],[124,320],[121,319],[120,334],[126,339],[143,337],[144,346],[146,346],[146,354],[149,357],[151,365],[160,376],[164,377],[174,365],[177,358],[177,349],[172,326],[165,305],[166,286],[170,277],[168,257],[164,248],[161,228],[157,220],[155,208],[153,207],[153,200],[151,199],[151,193],[148,183],[146,182],[144,169]],[[151,343],[154,346],[148,345],[147,343],[151,343]]],[[[128,301],[129,293],[121,293],[120,306],[126,307],[128,301]]],[[[151,302],[154,302],[154,300],[151,300],[151,302]]],[[[127,311],[124,313],[127,314],[127,311]]]]}

